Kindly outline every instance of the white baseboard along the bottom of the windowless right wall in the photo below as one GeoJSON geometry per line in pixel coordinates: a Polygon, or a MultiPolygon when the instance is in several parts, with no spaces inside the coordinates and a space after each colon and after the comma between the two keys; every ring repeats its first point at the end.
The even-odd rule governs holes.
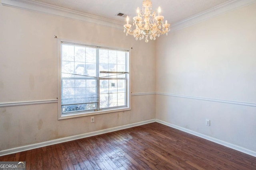
{"type": "Polygon", "coordinates": [[[189,129],[186,129],[186,128],[183,128],[183,127],[180,127],[180,126],[176,126],[176,125],[173,125],[173,124],[171,124],[171,123],[168,123],[168,122],[165,122],[165,121],[161,121],[161,120],[159,120],[159,119],[156,119],[156,122],[157,122],[157,123],[161,123],[161,124],[166,125],[166,126],[169,126],[169,127],[172,127],[172,128],[174,128],[174,129],[178,129],[178,130],[180,130],[180,131],[189,133],[189,134],[191,134],[191,135],[194,135],[194,136],[197,136],[197,137],[206,139],[206,140],[208,140],[208,141],[212,141],[212,142],[214,142],[214,143],[218,143],[218,144],[220,144],[220,145],[223,145],[223,146],[225,146],[225,147],[228,147],[228,148],[237,150],[237,151],[239,151],[239,152],[243,152],[243,153],[245,153],[245,154],[249,154],[249,155],[251,155],[251,156],[256,157],[256,152],[255,152],[255,151],[248,150],[248,149],[245,149],[245,148],[242,148],[242,147],[233,145],[233,144],[231,144],[231,143],[227,143],[227,142],[221,141],[221,140],[219,140],[219,139],[215,139],[215,138],[213,138],[213,137],[209,137],[209,136],[207,136],[207,135],[203,135],[203,134],[201,134],[201,133],[197,133],[197,132],[195,132],[195,131],[191,131],[191,130],[189,130],[189,129]]]}

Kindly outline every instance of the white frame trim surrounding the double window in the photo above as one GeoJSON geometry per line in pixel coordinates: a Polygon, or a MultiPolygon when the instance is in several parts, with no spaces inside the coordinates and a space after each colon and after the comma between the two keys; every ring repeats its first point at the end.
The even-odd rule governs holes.
{"type": "MultiPolygon", "coordinates": [[[[129,55],[127,56],[127,93],[126,93],[126,107],[118,107],[118,108],[110,108],[110,109],[104,109],[104,110],[98,110],[98,111],[79,111],[79,112],[73,112],[70,114],[62,114],[62,105],[61,105],[61,45],[62,43],[70,43],[73,45],[82,45],[82,46],[92,46],[92,45],[85,45],[82,43],[76,43],[72,41],[65,41],[62,39],[58,39],[58,120],[61,119],[69,119],[69,118],[74,118],[74,117],[83,117],[83,116],[91,116],[91,115],[99,115],[99,114],[105,114],[105,113],[113,113],[113,112],[122,112],[122,111],[128,111],[131,110],[131,73],[130,73],[130,68],[131,68],[131,50],[122,50],[122,49],[114,49],[114,48],[108,48],[104,47],[104,49],[114,49],[114,50],[121,50],[121,51],[127,51],[129,55]]],[[[93,46],[93,47],[99,47],[99,46],[93,46]]],[[[102,48],[102,47],[101,47],[102,48]]]]}

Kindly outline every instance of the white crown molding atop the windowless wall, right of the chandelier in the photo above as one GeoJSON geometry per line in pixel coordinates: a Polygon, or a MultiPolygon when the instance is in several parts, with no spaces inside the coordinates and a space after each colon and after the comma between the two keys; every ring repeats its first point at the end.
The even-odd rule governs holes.
{"type": "Polygon", "coordinates": [[[171,24],[170,32],[178,31],[191,25],[195,25],[196,23],[214,18],[226,12],[230,12],[240,7],[253,4],[255,2],[256,0],[229,0],[220,5],[214,6],[213,8],[210,8],[209,10],[200,12],[194,16],[171,24]]]}

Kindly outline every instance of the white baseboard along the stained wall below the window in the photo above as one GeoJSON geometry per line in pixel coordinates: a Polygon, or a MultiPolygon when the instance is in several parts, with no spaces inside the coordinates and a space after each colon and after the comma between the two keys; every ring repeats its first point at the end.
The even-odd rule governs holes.
{"type": "Polygon", "coordinates": [[[84,134],[74,135],[74,136],[70,136],[70,137],[64,137],[64,138],[60,138],[60,139],[54,139],[54,140],[51,140],[51,141],[35,143],[35,144],[32,144],[32,145],[26,145],[26,146],[22,146],[22,147],[16,147],[16,148],[12,148],[12,149],[1,150],[0,151],[0,156],[4,156],[4,155],[7,155],[7,154],[13,154],[13,153],[17,153],[17,152],[22,152],[22,151],[25,151],[25,150],[45,147],[45,146],[49,146],[49,145],[54,145],[54,144],[58,144],[58,143],[73,141],[73,140],[76,140],[76,139],[82,139],[82,138],[86,138],[86,137],[101,135],[101,134],[104,134],[104,133],[119,131],[119,130],[122,130],[122,129],[127,129],[127,128],[130,128],[130,127],[145,125],[145,124],[153,123],[153,122],[156,122],[156,119],[141,121],[141,122],[137,122],[137,123],[131,123],[131,124],[128,124],[128,125],[112,127],[112,128],[103,129],[103,130],[100,130],[100,131],[94,131],[94,132],[90,132],[90,133],[84,133],[84,134]]]}

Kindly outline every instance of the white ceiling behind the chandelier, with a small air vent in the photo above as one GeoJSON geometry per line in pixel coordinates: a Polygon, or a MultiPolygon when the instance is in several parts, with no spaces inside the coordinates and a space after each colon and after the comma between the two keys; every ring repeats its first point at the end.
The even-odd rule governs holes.
{"type": "MultiPolygon", "coordinates": [[[[136,15],[136,9],[142,9],[142,0],[36,0],[46,4],[108,18],[125,23],[125,18],[116,16],[119,12],[130,17],[136,15]]],[[[176,23],[222,3],[232,0],[151,0],[152,9],[157,12],[161,7],[164,20],[176,23]]]]}

